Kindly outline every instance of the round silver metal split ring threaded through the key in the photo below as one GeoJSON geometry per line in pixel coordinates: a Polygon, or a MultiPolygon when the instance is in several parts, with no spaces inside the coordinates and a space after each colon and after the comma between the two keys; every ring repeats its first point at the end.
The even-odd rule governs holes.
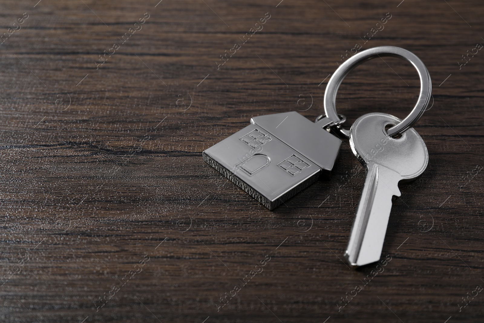
{"type": "MultiPolygon", "coordinates": [[[[394,137],[403,134],[420,119],[423,112],[425,111],[425,108],[427,108],[428,106],[428,103],[430,101],[430,94],[432,92],[432,81],[430,79],[430,74],[428,73],[427,68],[415,54],[406,49],[394,46],[379,46],[363,50],[362,52],[351,56],[347,61],[345,61],[336,69],[333,76],[328,81],[328,85],[326,86],[326,92],[324,93],[324,111],[326,113],[326,116],[333,120],[335,124],[340,124],[341,119],[336,113],[335,103],[336,93],[338,92],[338,88],[341,85],[341,82],[353,68],[365,61],[380,57],[380,55],[395,56],[403,58],[404,60],[410,62],[417,70],[420,78],[419,101],[405,119],[388,129],[387,131],[389,136],[394,137]]],[[[343,129],[342,127],[338,127],[337,129],[344,136],[349,137],[349,130],[343,129]]]]}

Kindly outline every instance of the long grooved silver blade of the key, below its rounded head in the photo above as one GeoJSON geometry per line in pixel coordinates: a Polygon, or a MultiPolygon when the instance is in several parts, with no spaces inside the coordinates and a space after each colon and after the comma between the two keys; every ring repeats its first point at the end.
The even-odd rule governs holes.
{"type": "Polygon", "coordinates": [[[400,174],[369,164],[358,210],[351,228],[345,258],[351,265],[363,266],[380,260],[392,197],[400,196],[400,174]]]}

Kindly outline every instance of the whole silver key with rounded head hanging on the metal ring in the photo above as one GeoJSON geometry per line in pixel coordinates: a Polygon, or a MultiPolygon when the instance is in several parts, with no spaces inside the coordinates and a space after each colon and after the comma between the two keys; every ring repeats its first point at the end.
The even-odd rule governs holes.
{"type": "Polygon", "coordinates": [[[351,126],[351,150],[367,171],[345,253],[351,265],[380,260],[392,198],[401,195],[398,183],[416,179],[427,167],[427,147],[415,129],[398,139],[386,134],[385,126],[399,122],[390,114],[368,113],[351,126]]]}

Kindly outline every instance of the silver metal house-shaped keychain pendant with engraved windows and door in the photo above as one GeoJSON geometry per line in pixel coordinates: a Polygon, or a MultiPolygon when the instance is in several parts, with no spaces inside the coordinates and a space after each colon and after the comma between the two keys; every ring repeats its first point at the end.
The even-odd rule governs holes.
{"type": "Polygon", "coordinates": [[[341,139],[327,125],[295,111],[254,117],[205,150],[203,160],[272,210],[319,176],[329,178],[341,139]]]}

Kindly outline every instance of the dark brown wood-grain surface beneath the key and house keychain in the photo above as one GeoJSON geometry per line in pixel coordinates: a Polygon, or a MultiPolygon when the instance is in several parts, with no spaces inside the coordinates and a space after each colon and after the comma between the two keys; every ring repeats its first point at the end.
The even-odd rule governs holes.
{"type": "MultiPolygon", "coordinates": [[[[462,58],[484,44],[482,1],[36,2],[0,4],[1,322],[484,321],[484,52],[462,58]],[[378,274],[342,261],[365,176],[348,140],[330,181],[274,211],[201,156],[252,116],[324,113],[357,43],[406,48],[433,80],[429,164],[400,185],[378,274]]],[[[403,118],[419,86],[372,60],[338,112],[403,118]]]]}

